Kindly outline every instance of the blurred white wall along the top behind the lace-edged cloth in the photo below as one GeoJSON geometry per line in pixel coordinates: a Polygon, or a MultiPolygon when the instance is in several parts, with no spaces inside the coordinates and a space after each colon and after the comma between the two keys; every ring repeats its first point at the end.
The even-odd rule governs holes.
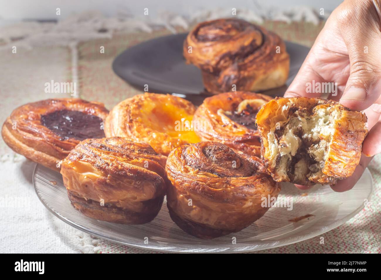
{"type": "Polygon", "coordinates": [[[195,11],[216,8],[258,9],[258,7],[288,9],[295,6],[311,6],[332,11],[341,0],[0,0],[0,20],[4,22],[21,19],[64,19],[86,10],[99,10],[106,16],[118,12],[133,17],[143,16],[144,8],[149,8],[150,16],[160,12],[171,12],[187,16],[195,11]],[[56,16],[56,8],[61,16],[56,16]]]}

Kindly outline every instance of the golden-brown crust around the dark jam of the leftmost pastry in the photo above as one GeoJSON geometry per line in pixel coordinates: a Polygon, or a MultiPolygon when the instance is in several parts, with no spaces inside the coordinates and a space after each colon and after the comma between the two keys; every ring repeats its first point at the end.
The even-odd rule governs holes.
{"type": "Polygon", "coordinates": [[[43,115],[60,110],[78,111],[98,116],[102,120],[108,114],[102,103],[78,98],[56,98],[28,103],[14,109],[4,122],[4,142],[16,153],[59,171],[57,163],[80,142],[75,138],[62,139],[42,124],[43,115]]]}

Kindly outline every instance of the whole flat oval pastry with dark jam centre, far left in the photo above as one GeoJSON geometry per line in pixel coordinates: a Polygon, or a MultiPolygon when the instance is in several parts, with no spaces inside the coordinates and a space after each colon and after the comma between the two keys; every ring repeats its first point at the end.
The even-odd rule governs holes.
{"type": "Polygon", "coordinates": [[[57,98],[16,108],[2,128],[4,142],[16,153],[59,171],[64,159],[81,140],[104,137],[108,111],[102,103],[57,98]]]}

